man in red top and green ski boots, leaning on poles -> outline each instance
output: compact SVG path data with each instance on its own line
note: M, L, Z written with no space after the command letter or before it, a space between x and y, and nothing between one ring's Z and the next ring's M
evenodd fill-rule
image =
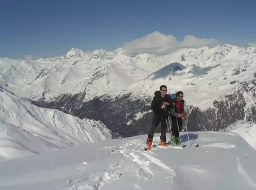
M179 130L182 128L182 118L186 116L187 106L186 102L183 100L183 92L178 91L176 93L176 98L172 99L173 107L171 109L171 118L172 118L172 143L179 145L178 140Z

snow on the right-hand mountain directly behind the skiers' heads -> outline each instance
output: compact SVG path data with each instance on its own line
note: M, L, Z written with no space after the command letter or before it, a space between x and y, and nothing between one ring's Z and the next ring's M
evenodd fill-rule
M184 52L187 54L185 61L180 62ZM213 107L212 102L215 99L234 90L236 85L231 82L251 80L256 71L256 49L231 45L179 50L164 57L169 60L170 67L160 68L155 77L132 84L125 93L143 92L153 97L155 90L165 84L171 94L181 90L187 104L205 110ZM173 74L171 65L176 62L186 68ZM243 71L234 75L234 70Z

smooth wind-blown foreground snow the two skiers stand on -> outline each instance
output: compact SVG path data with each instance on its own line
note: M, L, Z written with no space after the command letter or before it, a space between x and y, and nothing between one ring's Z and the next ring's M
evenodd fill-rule
M146 135L0 163L1 190L255 190L256 151L226 132L182 134L183 149L143 151ZM194 139L194 140L192 140ZM190 146L200 143L200 147ZM159 134L154 139L159 143Z

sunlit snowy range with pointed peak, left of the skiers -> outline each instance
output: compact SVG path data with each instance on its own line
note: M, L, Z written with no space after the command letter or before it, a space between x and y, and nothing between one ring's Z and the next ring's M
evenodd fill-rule
M143 54L131 58L123 49L113 52L94 50L83 54L72 48L61 57L34 61L1 59L1 79L22 97L30 100L60 99L81 94L83 101L120 91L162 67L157 56ZM149 64L153 66L148 67Z

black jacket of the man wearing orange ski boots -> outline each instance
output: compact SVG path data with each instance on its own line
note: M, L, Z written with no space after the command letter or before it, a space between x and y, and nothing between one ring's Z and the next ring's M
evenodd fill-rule
M168 102L169 103L169 105L166 106L166 109L161 108L163 102ZM167 116L168 112L170 112L171 109L173 108L173 103L172 103L172 100L171 100L171 98L168 94L166 94L165 97L163 98L161 96L160 91L156 91L150 108L151 108L151 110L153 110L154 115Z

